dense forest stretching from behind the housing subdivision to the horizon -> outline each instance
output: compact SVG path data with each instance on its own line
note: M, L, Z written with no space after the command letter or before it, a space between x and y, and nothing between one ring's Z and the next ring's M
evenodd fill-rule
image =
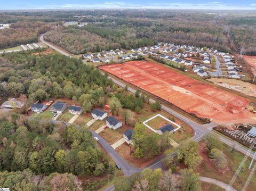
M79 17L78 15L90 15ZM102 17L102 15L106 15ZM74 17L77 16L77 17ZM42 22L59 25L60 21L87 22L87 26L48 28L47 40L58 44L71 53L98 52L103 49L130 49L166 41L174 44L217 48L230 51L229 36L234 39L237 51L243 47L245 54L255 55L255 13L252 11L179 11L179 10L79 10L45 12L3 12L0 23ZM57 23L56 23L57 22ZM11 24L11 28L13 24ZM35 27L34 27L35 28ZM33 29L30 29L34 31ZM17 35L0 31L0 48L17 45ZM21 31L23 32L21 32ZM19 38L28 38L28 43L36 38L35 34L24 27L19 28ZM45 32L43 30L42 32ZM30 38L31 37L31 38ZM62 37L62 38L61 38ZM67 38L68 40L66 40ZM91 40L90 40L91 39ZM8 43L6 43L8 40ZM19 40L21 43L26 41ZM101 43L101 41L103 43ZM96 43L95 43L96 42ZM94 45L95 43L95 45Z

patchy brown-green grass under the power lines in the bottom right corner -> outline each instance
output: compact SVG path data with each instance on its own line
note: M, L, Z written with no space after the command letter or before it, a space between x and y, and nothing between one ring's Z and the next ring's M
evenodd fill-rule
M233 153L230 152L230 147L223 144L221 150L226 155L227 161L228 161L228 168L226 171L218 171L215 168L214 162L209 159L207 156L207 153L202 152L203 150L203 143L200 143L200 154L203 157L203 162L198 166L197 172L200 173L201 176L214 178L217 180L220 180L222 182L225 182L226 184L229 184L230 179L234 176L235 171L237 170L239 164L243 160L244 154L234 151ZM241 170L239 173L236 181L234 182L233 187L237 190L242 190L247 177L250 174L250 170L248 169L249 164L251 162L251 158L249 157L244 165L244 169ZM253 178L250 182L249 187L247 188L247 191L255 190L256 187L256 176L253 175Z

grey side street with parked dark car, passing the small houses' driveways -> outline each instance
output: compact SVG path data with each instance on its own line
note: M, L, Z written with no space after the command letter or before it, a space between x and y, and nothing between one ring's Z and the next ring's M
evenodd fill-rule
M93 137L97 137L99 139L98 143L102 146L102 148L110 155L111 159L121 165L123 168L124 176L131 176L135 172L139 172L140 169L133 167L131 164L127 163L115 150L111 147L108 142L103 139L100 135L90 130Z

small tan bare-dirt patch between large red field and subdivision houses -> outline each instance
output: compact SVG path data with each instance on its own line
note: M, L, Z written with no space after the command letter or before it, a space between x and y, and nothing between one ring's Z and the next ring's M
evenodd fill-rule
M227 79L227 78L210 78L207 80L219 86L236 90L245 95L256 97L256 85L253 85L249 82L244 82L236 79Z

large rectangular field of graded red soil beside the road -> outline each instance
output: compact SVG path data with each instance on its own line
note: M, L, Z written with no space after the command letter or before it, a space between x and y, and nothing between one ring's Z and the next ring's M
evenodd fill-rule
M99 68L198 117L220 124L256 121L256 114L245 109L249 99L206 85L161 64L131 61Z

